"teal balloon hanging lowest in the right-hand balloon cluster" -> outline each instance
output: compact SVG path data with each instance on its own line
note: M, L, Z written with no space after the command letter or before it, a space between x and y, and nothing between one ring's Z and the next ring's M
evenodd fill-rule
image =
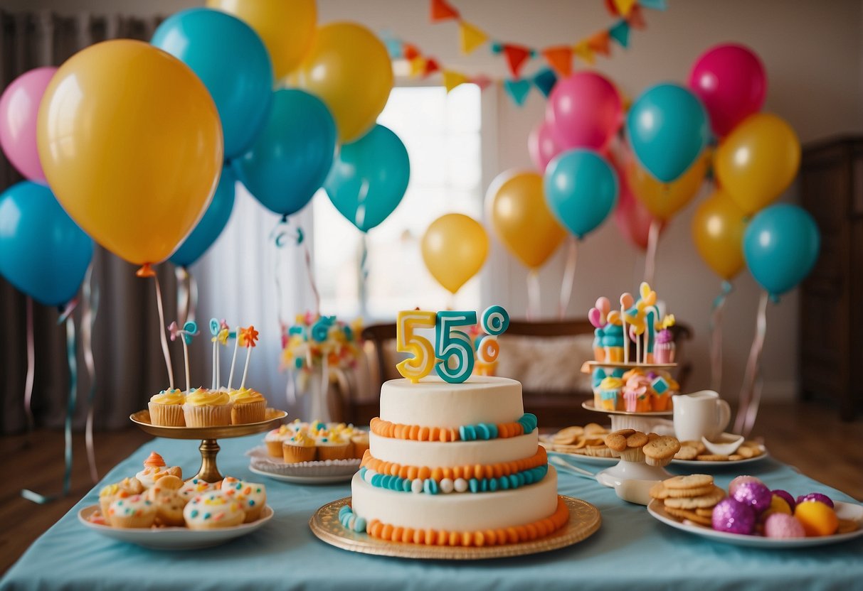
M812 216L782 203L756 214L743 233L743 257L755 281L771 296L794 289L815 266L821 233Z

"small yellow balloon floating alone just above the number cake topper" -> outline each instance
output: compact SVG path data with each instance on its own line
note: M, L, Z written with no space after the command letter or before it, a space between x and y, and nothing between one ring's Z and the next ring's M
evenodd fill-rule
M488 256L488 234L472 217L442 215L425 231L422 252L431 275L455 294L482 269Z

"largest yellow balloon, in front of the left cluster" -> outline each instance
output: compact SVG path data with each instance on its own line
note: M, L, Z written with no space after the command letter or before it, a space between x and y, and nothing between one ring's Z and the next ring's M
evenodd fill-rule
M104 41L61 65L36 134L66 213L134 264L171 256L204 214L222 170L210 93L179 59L141 41Z

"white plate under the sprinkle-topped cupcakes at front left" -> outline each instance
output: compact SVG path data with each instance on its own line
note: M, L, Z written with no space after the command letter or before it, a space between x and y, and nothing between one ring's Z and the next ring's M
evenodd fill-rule
M84 507L78 512L79 521L93 532L97 532L107 538L117 539L129 544L137 544L153 550L197 550L198 548L209 548L230 542L234 538L247 536L254 532L270 519L273 519L274 511L269 505L261 512L261 519L252 523L244 523L242 526L221 527L213 530L190 530L186 527L161 527L161 528L131 528L101 526L87 518L97 511L98 505Z

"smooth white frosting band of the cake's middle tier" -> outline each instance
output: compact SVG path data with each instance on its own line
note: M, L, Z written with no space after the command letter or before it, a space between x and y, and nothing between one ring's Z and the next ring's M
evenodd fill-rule
M369 453L383 462L429 468L454 468L467 464L501 463L536 455L537 431L507 439L488 441L413 441L390 439L369 433Z

